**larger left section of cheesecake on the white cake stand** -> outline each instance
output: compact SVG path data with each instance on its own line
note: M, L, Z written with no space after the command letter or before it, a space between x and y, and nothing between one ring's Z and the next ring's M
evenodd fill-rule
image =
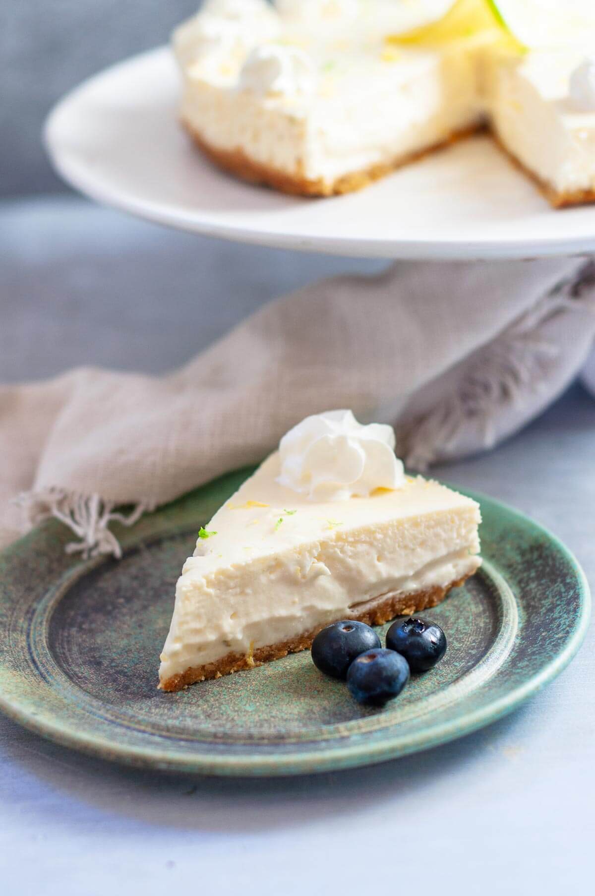
M265 14L255 15L251 0L251 13L246 7L233 19L232 41L225 7L211 3L175 32L180 116L201 149L240 177L288 193L341 194L484 122L482 36L387 47L389 22L383 30L375 15L361 20L340 9L330 22L296 22L264 3Z

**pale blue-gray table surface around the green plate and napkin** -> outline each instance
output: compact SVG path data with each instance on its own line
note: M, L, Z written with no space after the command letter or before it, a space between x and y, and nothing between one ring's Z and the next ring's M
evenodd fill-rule
M85 202L0 206L0 382L75 364L159 372L260 302L363 262L169 233ZM595 401L437 475L554 530L595 582ZM126 771L0 717L0 892L591 892L593 631L522 709L453 744L274 781Z

